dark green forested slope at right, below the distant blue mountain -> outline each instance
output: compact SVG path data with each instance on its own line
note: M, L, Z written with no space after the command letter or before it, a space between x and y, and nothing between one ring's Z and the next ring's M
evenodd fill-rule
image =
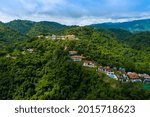
M150 50L150 32L131 33L122 29L99 29L99 31L117 39L119 42L137 50Z

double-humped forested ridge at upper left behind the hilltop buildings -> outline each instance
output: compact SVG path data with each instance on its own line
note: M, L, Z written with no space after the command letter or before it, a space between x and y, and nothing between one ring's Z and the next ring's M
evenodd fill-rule
M9 23L6 23L6 26L14 29L22 34L27 34L29 36L37 36L40 34L49 34L49 33L59 33L66 26L61 25L56 22L33 22L28 20L14 20Z

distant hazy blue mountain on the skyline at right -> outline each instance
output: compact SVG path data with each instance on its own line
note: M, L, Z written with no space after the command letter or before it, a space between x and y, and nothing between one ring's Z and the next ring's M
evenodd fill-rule
M125 30L129 30L131 32L150 31L150 19L135 20L135 21L130 21L130 22L122 22L122 23L92 24L90 26L95 27L95 28L125 29Z

